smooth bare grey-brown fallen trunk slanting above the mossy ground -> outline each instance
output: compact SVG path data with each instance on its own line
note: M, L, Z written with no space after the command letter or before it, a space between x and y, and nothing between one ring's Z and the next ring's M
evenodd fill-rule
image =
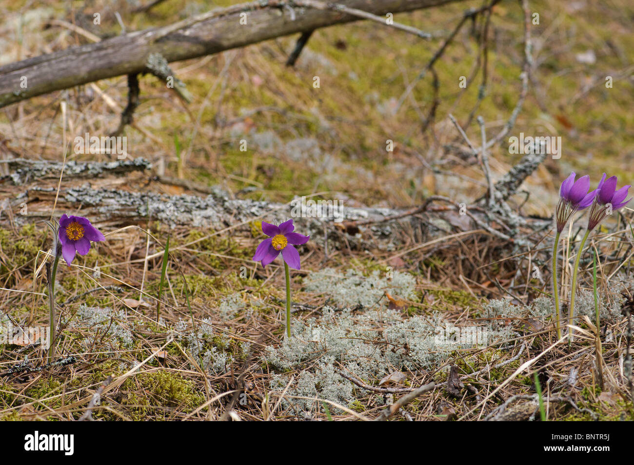
M339 4L385 15L455 1L462 0L341 0ZM87 82L146 72L152 53L159 53L167 62L178 62L359 20L358 16L336 9L298 5L300 0L272 0L217 8L166 27L131 32L5 65L0 67L0 107ZM247 24L241 24L241 18L246 18Z

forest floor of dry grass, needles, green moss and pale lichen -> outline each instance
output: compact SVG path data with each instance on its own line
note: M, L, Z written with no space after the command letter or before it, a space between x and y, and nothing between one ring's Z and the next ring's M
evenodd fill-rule
M140 30L228 2L181 8L167 0L148 13L106 4L3 6L0 65L87 43L84 32L119 34L113 11L125 13L127 30ZM631 182L634 6L529 4L539 15L529 91L489 164L498 180L521 158L509 152L510 136L560 136L562 156L548 156L509 200L525 218L550 218L573 170L590 174L593 185L603 172ZM478 145L477 115L489 135L507 123L521 93L521 5L497 4L488 26L485 15L469 20L434 66L437 91L430 73L404 94L470 6L481 4L395 16L431 32L430 41L370 22L317 30L295 67L285 61L296 37L172 63L193 95L189 104L144 75L124 135L130 158L143 157L150 170L15 183L0 162L0 328L48 325L51 231L41 218L89 216L69 199L74 188L281 204L317 194L359 209L408 209L430 195L474 202L486 180L475 157L462 156L467 145L448 115ZM92 22L96 11L101 25ZM54 18L75 18L82 32L51 25ZM110 161L78 154L74 138L112 133L126 102L123 76L12 105L0 113L3 159ZM394 150L386 151L388 141ZM264 239L261 221L272 218L224 227L101 218L95 226L106 240L72 267L60 264L55 362L46 365L37 344L0 344L0 419L354 420L385 417L396 405L389 417L405 421L632 420L628 344L634 348L623 313L631 301L622 295L633 284L631 218L623 209L591 237L599 252L596 294L592 255L582 255L572 343L557 341L554 329L552 230L529 247L482 230L456 237L456 225L434 244L406 225L380 247L354 241L372 243L370 227L330 239L313 234L299 249L302 270L291 273L287 339L281 258L264 269L252 261ZM571 222L562 236L564 310L585 221ZM296 232L301 227L297 221ZM434 388L398 404L431 382Z

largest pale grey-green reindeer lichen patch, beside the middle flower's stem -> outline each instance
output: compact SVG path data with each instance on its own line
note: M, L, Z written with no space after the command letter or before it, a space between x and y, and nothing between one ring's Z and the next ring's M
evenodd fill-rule
M385 291L415 298L415 284L412 275L401 272L394 272L391 279L380 277L377 271L369 277L354 270L345 275L330 269L313 273L305 290L326 294L342 307L325 306L320 318L294 322L291 339L278 348L266 348L263 362L276 372L271 389L284 390L290 378L287 372L299 370L288 395L351 405L367 393L337 374L337 369L375 384L394 370L434 370L454 351L480 345L469 338L452 339L445 332L451 325L441 311L407 317L403 311L385 308L385 302L377 304ZM514 337L507 327L484 329L480 334L488 344ZM320 408L313 400L292 402L302 409Z

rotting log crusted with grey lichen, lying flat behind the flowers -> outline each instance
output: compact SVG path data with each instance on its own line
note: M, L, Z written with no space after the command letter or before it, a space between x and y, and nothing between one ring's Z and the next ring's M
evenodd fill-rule
M543 157L524 155L518 164L505 175L500 183L495 185L496 198L505 205L505 200L515 193L522 181L535 169ZM4 181L11 180L15 185L27 185L28 190L11 199L5 198L0 203L0 212L11 209L13 214L0 214L0 225L7 221L17 224L28 223L50 218L49 206L53 204L57 190L58 176L61 163L47 160L29 161L22 159L8 160L8 166L15 169L15 173L5 176ZM169 226L190 226L192 228L211 228L223 230L241 224L243 229L249 230L247 223L256 219L266 221L285 221L296 218L304 233L323 235L324 233L346 237L353 246L391 248L401 243L401 240L413 234L421 242L436 240L452 234L462 235L473 231L486 232L501 239L507 239L514 246L526 246L530 240L526 237L534 232L540 232L550 226L550 219L524 218L512 213L512 218L503 216L505 209L491 218L491 211L484 207L483 200L477 200L468 207L466 214L460 214L459 206L453 200L444 197L429 197L422 206L414 209L389 208L353 208L336 205L337 209L327 211L328 214L314 216L314 211L307 209L302 214L301 199L290 204L256 201L250 199L236 199L221 188L209 187L202 189L197 185L189 185L182 180L174 183L169 178L145 176L152 165L142 158L135 160L117 160L113 162L67 162L64 169L65 180L94 180L84 185L65 183L60 187L58 211L63 213L65 208L75 209L81 205L82 214L89 216L94 223L108 223L110 225L130 225L160 221ZM179 185L192 192L208 192L205 197L197 195L167 195L157 192L131 192L130 190L115 188L120 181L108 181L108 175L141 172L136 181L148 187L148 182ZM42 181L51 180L48 185ZM37 181L35 183L34 181ZM140 181L140 182L139 182ZM498 192L498 185L503 192ZM437 204L434 202L441 202ZM23 211L23 206L29 208ZM331 204L332 205L332 204ZM310 207L310 205L309 205ZM335 205L332 205L335 207ZM328 209L328 206L326 206ZM508 206L506 206L508 209ZM22 210L23 213L18 211ZM522 232L517 237L508 237L493 228L491 220L498 224L508 222L519 226ZM400 232L406 230L405 235Z

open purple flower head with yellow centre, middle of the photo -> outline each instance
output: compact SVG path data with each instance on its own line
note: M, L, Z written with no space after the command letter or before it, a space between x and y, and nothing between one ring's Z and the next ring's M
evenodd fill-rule
M289 219L280 226L271 225L262 221L262 231L269 236L257 246L256 254L253 256L254 261L261 261L262 266L266 266L280 254L284 261L295 270L301 270L299 264L299 252L293 246L306 244L310 236L304 236L293 232L293 220Z

